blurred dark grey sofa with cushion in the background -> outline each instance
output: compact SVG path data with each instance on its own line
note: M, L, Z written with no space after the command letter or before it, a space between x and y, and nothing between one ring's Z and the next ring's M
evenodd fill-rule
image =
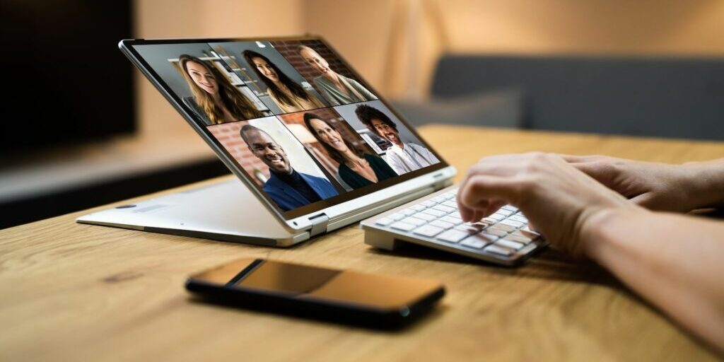
M724 140L724 58L445 55L432 100L396 105L416 123Z

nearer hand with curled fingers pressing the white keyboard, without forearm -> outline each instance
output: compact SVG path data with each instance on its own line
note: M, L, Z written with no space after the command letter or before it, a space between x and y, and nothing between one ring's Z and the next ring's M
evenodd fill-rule
M600 211L642 210L551 153L481 159L460 183L457 199L466 222L479 221L510 203L549 243L576 257L586 253L586 230Z

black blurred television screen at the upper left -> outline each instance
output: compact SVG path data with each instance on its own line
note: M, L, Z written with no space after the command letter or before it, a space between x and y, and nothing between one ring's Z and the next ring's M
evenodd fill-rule
M3 153L135 130L131 2L0 0Z

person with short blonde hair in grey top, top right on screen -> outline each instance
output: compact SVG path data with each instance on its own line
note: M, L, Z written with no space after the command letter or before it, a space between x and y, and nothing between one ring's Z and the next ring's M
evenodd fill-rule
M377 97L367 88L352 78L334 72L329 67L327 60L322 58L319 53L308 46L299 46L297 51L307 64L321 72L320 77L314 78L314 85L319 89L319 93L327 98L332 106L340 106L341 104L358 103L362 101L373 101Z

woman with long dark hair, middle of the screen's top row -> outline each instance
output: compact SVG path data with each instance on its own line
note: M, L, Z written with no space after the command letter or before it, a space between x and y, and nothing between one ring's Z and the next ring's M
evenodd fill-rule
M308 111L324 107L324 104L301 85L293 81L277 64L256 51L245 50L242 55L259 79L269 88L269 98L283 113Z

